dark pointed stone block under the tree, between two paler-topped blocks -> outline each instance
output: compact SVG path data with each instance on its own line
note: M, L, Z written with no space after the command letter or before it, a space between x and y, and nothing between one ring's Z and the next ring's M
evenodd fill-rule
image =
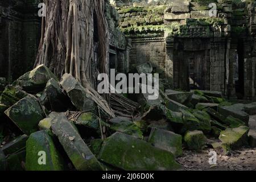
M53 78L47 82L46 88L40 97L40 102L51 111L66 111L70 105L68 96L65 96L59 83Z

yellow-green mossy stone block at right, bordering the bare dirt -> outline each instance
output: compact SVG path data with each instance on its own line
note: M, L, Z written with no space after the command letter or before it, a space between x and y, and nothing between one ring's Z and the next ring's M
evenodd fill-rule
M238 148L247 144L249 127L240 126L235 129L226 129L221 131L219 139L222 143L227 144L231 149Z

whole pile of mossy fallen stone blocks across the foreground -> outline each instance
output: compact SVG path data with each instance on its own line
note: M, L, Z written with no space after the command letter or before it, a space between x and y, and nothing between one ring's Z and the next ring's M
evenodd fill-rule
M16 127L19 137L3 134L0 170L177 170L184 149L226 155L255 146L248 121L256 103L232 105L202 90L128 97L141 114L105 117L74 77L59 81L40 65L2 92L0 129Z

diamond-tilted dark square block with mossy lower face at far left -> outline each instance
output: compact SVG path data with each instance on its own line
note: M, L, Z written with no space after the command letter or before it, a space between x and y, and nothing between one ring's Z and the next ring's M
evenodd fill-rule
M38 130L39 122L45 117L42 107L34 96L23 98L7 109L5 114L27 135Z

